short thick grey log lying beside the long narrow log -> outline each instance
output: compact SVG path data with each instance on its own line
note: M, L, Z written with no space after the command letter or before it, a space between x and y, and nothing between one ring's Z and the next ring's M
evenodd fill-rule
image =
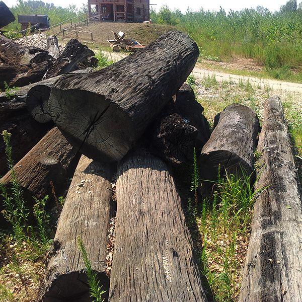
M251 174L259 128L259 120L249 107L226 107L198 159L201 178L215 180L219 165L222 174L225 170L235 175L241 175L242 170Z

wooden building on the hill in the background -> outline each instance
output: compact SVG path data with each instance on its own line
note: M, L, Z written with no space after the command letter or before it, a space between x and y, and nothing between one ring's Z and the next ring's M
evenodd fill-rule
M149 0L88 0L88 10L90 17L96 16L102 21L149 20Z

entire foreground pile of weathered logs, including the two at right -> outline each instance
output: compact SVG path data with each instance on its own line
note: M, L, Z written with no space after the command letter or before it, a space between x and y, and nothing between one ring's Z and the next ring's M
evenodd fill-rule
M1 130L12 132L18 153L14 171L26 199L50 194L50 182L59 189L68 170L77 167L38 300L90 300L80 237L106 302L206 302L208 284L198 268L171 171L181 167L191 174L195 148L202 179L215 180L219 169L221 174L252 173L259 120L252 109L233 104L215 117L210 135L202 106L184 84L198 47L181 32L168 32L105 69L75 70L92 55L77 40L59 53L55 37L42 51L0 36L2 74L7 77L12 68L7 83L24 84L11 100L0 94L0 114ZM19 66L22 60L28 61ZM37 82L26 82L24 70L39 64L45 65L44 79L40 74ZM0 143L0 163L5 162L4 149ZM301 192L276 98L265 103L258 149L264 170L257 188L266 189L255 205L240 299L300 301ZM9 187L12 171L4 167L0 181ZM114 216L109 267L106 250Z

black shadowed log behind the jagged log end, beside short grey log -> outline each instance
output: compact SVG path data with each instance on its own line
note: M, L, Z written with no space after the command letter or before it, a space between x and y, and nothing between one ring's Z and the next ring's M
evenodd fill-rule
M202 114L203 107L196 101L194 91L188 84L183 84L175 96L175 105L184 120L198 130L196 148L201 148L210 138L210 127Z

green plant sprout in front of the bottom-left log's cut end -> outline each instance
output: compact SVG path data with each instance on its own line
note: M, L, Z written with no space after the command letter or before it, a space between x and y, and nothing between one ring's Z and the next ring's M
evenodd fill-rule
M90 296L93 298L93 302L104 302L103 294L106 290L102 290L102 286L100 286L100 281L97 279L97 273L93 271L91 267L91 261L88 257L86 247L79 236L77 238L79 249L82 253L84 265L86 267L87 281L89 285Z

